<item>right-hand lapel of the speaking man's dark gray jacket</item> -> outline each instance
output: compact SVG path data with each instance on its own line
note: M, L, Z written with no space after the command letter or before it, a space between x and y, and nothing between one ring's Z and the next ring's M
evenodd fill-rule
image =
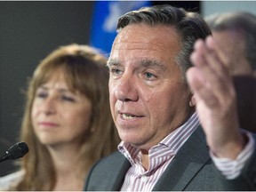
M174 156L171 164L167 166L153 190L183 190L189 180L209 160L209 148L206 145L204 132L200 126Z

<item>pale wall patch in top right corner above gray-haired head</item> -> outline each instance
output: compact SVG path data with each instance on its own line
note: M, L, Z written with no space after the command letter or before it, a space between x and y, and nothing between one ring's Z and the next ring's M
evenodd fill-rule
M202 1L201 12L204 17L213 13L247 11L256 14L256 1Z

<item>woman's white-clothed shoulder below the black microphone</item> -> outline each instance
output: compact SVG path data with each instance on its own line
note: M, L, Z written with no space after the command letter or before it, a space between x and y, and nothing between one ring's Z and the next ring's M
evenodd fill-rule
M16 186L22 180L24 173L24 171L12 172L11 174L0 177L0 190L8 190Z

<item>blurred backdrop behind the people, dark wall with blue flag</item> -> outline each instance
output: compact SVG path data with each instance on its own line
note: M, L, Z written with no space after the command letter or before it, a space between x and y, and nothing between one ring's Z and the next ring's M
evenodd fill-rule
M64 44L91 44L107 56L124 12L148 4L172 4L199 12L256 13L253 1L0 1L0 156L19 141L28 77L40 60ZM15 170L0 164L0 176Z

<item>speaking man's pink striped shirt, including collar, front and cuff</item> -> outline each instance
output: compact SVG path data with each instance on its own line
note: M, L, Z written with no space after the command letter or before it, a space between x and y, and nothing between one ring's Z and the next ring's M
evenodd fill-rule
M157 180L170 164L172 158L177 154L189 136L196 130L199 120L196 113L188 121L181 125L174 132L171 132L158 145L150 148L148 151L149 168L145 171L141 164L140 149L133 148L131 145L124 143L119 144L119 151L130 161L132 167L128 170L124 178L122 191L151 191L156 185ZM251 132L242 131L248 137L248 143L243 151L236 157L236 160L219 158L212 156L213 163L228 179L235 179L244 167L245 162L252 156L255 140Z

